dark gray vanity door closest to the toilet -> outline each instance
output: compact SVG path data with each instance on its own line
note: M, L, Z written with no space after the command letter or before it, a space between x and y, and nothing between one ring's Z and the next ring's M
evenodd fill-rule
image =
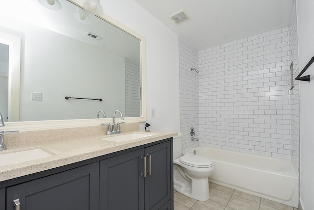
M171 141L145 148L147 171L151 158L151 175L145 178L145 210L160 209L172 197L171 149Z

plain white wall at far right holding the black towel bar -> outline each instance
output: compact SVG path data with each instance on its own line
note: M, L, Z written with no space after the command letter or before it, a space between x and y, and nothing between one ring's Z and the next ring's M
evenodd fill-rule
M313 0L297 0L299 69L314 56ZM314 65L300 81L300 201L303 210L314 209Z

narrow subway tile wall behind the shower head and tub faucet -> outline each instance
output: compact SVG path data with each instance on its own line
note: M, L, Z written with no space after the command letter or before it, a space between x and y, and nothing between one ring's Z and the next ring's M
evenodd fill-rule
M183 153L198 143L191 141L189 130L198 129L198 74L191 68L198 67L198 50L179 38L179 77L180 77L180 124L183 134Z

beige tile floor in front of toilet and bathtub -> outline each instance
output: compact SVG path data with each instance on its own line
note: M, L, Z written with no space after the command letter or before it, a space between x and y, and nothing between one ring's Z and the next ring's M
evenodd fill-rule
M175 191L174 210L298 210L214 183L209 183L209 195L202 202Z

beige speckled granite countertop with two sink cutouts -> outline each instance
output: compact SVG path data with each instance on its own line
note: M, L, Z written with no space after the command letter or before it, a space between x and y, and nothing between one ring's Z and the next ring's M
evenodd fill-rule
M134 131L123 132L121 134L115 134L114 136L133 132ZM135 132L145 134L149 133L145 131ZM0 182L156 142L177 135L177 132L151 131L150 133L154 135L124 142L103 140L101 138L111 137L113 135L106 136L105 134L102 134L85 137L63 137L62 139L57 139L56 137L51 136L51 139L47 138L45 141L32 142L29 144L10 145L10 147L7 146L7 150L1 151L0 155L31 149L42 149L50 153L52 156L0 166Z

